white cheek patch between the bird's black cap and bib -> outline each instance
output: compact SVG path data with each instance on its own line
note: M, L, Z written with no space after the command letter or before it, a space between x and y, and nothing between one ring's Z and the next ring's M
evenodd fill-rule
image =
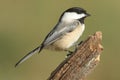
M81 19L83 17L85 17L86 15L84 13L81 14L77 14L75 12L66 12L63 17L62 17L62 21L71 21L71 20L75 20L75 19Z

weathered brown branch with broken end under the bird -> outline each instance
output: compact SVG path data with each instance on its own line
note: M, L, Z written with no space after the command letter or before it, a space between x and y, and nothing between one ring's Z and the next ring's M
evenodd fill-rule
M50 75L48 80L83 80L100 61L102 33L83 41Z

